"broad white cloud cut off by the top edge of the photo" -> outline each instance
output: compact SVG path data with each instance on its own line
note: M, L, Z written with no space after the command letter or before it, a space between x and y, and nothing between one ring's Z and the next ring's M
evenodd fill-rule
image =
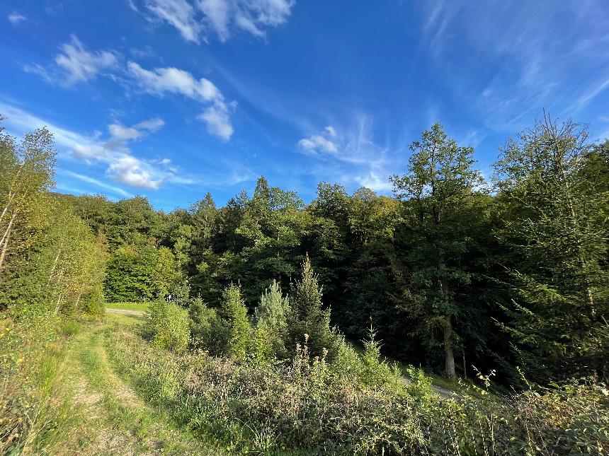
M215 35L220 41L242 30L264 37L266 28L288 21L295 0L143 0L152 17L173 25L184 40L199 43ZM195 5L195 6L193 6ZM137 7L132 4L137 11Z

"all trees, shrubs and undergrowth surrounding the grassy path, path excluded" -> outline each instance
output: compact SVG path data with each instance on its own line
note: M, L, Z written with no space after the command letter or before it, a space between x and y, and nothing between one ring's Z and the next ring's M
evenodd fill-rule
M609 141L585 124L544 112L488 179L434 124L391 196L259 177L169 213L54 192L50 131L0 134L3 454L61 440L34 373L115 303L147 309L108 329L118 372L229 454L609 451Z

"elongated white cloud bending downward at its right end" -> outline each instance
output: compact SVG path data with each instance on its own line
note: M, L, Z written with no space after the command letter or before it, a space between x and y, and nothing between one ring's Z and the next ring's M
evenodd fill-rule
M207 124L210 134L215 134L224 141L232 136L234 129L230 122L230 111L236 103L226 103L212 81L196 79L188 71L171 67L147 70L135 62L128 62L127 69L144 92L159 96L178 93L199 103L211 103L198 118Z

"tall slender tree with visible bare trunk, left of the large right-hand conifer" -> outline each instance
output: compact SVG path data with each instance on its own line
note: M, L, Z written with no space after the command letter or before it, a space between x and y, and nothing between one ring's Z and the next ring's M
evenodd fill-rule
M440 329L444 372L455 378L453 325L460 315L455 283L471 280L459 260L467 251L474 223L474 195L484 180L473 168L474 149L448 138L440 124L423 131L410 148L408 173L392 177L395 194L405 201L404 226L414 241L409 262L418 296L411 300L409 312L430 332Z

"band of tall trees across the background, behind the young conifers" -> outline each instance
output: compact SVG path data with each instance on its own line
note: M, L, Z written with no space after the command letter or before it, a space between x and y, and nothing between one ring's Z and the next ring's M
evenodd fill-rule
M322 182L305 204L261 177L251 196L217 207L207 193L170 213L53 194L44 129L1 145L5 309L171 296L222 312L232 284L254 314L297 288L308 256L318 317L353 341L372 325L387 356L448 378L496 369L511 385L519 371L608 378L609 143L584 125L544 116L500 148L491 182L436 124L392 197Z

